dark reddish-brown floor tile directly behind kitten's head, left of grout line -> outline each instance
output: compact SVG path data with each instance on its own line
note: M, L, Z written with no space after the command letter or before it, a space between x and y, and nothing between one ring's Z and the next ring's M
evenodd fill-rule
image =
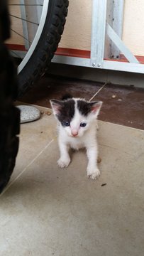
M101 83L98 82L45 75L37 82L35 87L19 100L43 107L50 107L50 99L61 99L67 93L74 97L84 97L89 100L100 87Z

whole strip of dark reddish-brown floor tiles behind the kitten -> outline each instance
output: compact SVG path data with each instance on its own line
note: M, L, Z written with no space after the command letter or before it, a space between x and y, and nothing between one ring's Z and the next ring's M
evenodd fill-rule
M43 107L50 107L50 99L60 99L65 93L90 100L102 85L99 82L46 74L19 100ZM94 100L104 102L99 119L144 129L144 89L123 85L106 85L94 97Z

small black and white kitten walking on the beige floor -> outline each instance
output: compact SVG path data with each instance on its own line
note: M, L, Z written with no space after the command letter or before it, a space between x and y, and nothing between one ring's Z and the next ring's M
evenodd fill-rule
M87 102L81 98L65 100L50 100L53 113L59 121L60 159L57 161L61 168L70 164L69 149L87 149L87 176L94 179L100 175L97 167L98 147L96 142L96 118L102 102Z

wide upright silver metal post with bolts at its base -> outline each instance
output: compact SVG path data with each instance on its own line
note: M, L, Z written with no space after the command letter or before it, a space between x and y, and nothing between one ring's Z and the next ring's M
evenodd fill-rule
M93 0L91 65L103 68L106 32L106 0Z

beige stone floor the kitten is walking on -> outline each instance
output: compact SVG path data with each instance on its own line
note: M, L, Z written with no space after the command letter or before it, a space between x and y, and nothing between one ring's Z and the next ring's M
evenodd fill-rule
M99 121L101 176L92 181L84 151L57 167L56 122L42 109L21 125L16 168L0 196L0 255L144 255L144 131Z

